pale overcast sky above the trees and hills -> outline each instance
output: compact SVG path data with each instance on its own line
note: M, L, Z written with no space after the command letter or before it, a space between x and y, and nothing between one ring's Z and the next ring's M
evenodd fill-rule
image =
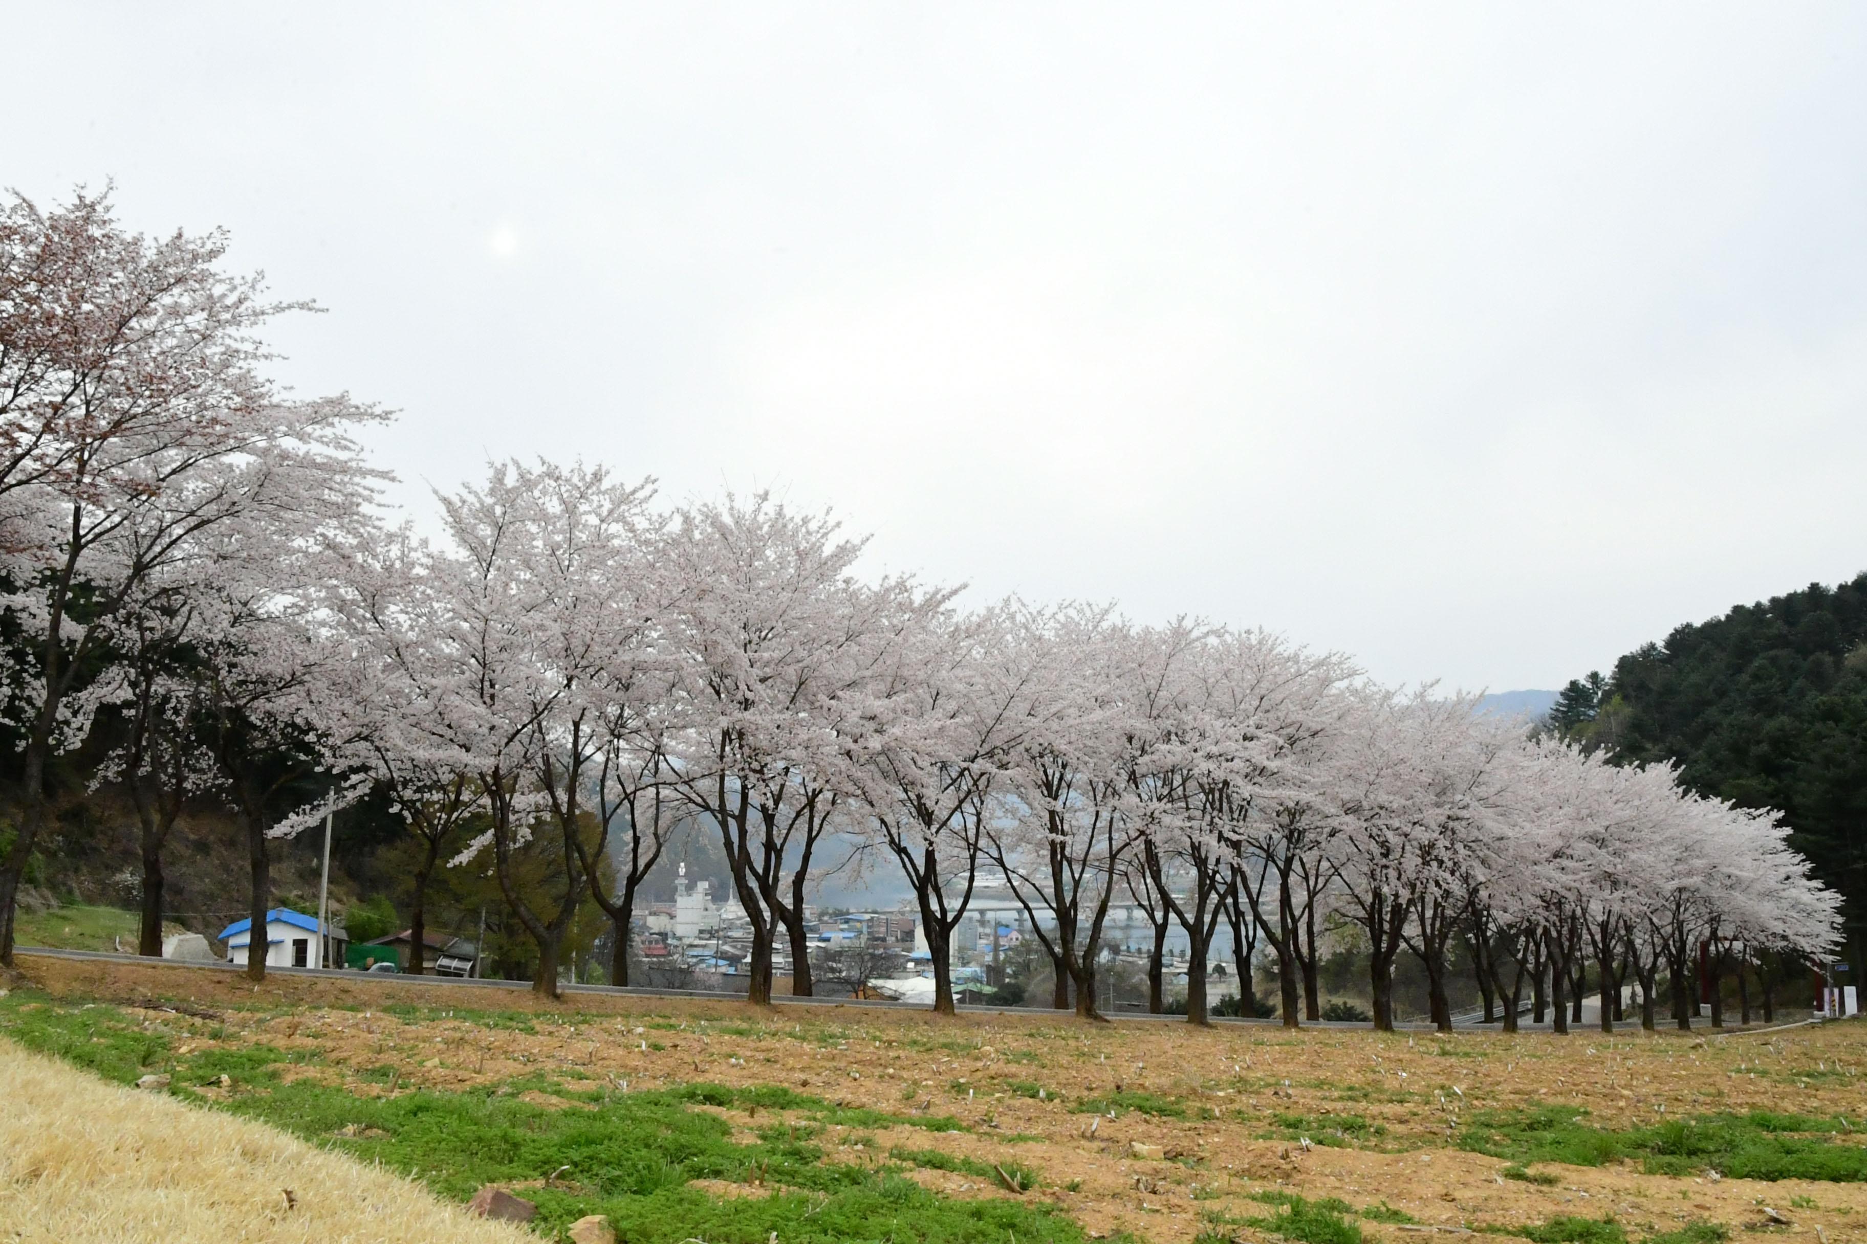
M1492 690L1867 569L1861 6L4 30L0 185L228 226L411 507L583 455Z

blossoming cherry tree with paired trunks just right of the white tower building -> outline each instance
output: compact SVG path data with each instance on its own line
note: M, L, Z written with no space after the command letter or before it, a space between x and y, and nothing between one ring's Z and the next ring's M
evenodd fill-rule
M945 593L851 576L863 541L760 494L678 515L668 642L678 655L674 781L721 836L752 923L751 998L771 998L782 929L810 994L805 895L898 690L896 642Z

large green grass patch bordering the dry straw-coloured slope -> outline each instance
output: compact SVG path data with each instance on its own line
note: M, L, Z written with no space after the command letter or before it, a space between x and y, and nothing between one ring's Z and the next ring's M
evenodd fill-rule
M456 1201L487 1182L554 1177L553 1186L523 1194L538 1203L534 1225L545 1238L556 1238L584 1214L607 1214L618 1237L631 1244L691 1238L760 1244L773 1233L786 1244L1083 1240L1081 1229L1049 1205L945 1197L898 1169L829 1158L818 1143L827 1125L930 1127L930 1121L846 1110L784 1087L685 1085L611 1095L588 1110L534 1106L519 1100L512 1085L500 1085L504 1093L418 1089L366 1097L312 1078L286 1084L273 1071L282 1056L265 1046L177 1057L168 1037L142 1030L116 1007L77 1007L24 994L0 998L0 1033L116 1082L174 1069L174 1091L183 1097L194 1097L189 1084L230 1074L241 1091L211 1108L269 1123L362 1162L381 1162ZM583 1091L554 1091L584 1097ZM700 1104L756 1104L773 1110L775 1117L756 1143L739 1143L734 1127ZM786 1119L777 1112L807 1117ZM1023 1166L1016 1171L1006 1166L1006 1173L1014 1181L1034 1181ZM767 1192L715 1199L691 1186L696 1179L745 1182Z

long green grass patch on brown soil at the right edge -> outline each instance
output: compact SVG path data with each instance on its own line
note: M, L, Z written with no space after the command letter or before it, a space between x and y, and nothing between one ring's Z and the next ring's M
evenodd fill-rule
M1518 1166L1634 1160L1650 1175L1714 1169L1734 1179L1867 1181L1867 1149L1830 1140L1845 1130L1839 1119L1753 1110L1611 1130L1591 1127L1585 1113L1572 1106L1477 1112L1458 1147Z

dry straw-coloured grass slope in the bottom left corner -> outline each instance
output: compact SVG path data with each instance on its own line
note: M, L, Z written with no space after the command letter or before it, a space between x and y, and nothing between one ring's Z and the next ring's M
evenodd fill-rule
M0 1240L536 1244L261 1123L121 1089L7 1041Z

